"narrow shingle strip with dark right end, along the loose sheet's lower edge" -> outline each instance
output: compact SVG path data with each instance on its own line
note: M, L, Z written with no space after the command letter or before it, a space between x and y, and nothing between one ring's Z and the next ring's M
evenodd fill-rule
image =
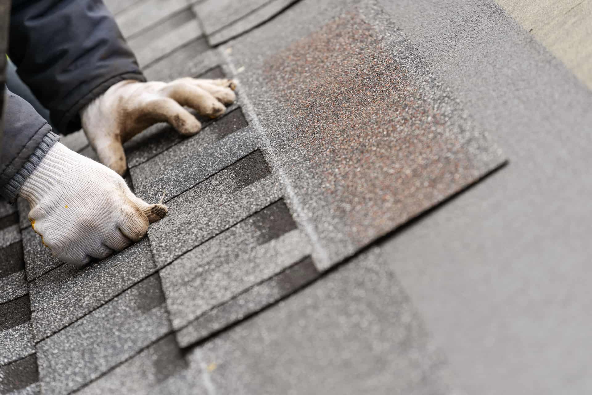
M253 285L226 303L202 314L176 332L177 341L181 347L201 341L281 300L315 280L318 275L312 259L305 258L269 280Z

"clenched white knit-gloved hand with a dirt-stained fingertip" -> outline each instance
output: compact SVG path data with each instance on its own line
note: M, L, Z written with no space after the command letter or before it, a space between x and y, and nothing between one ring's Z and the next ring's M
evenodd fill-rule
M137 242L167 211L136 197L111 169L61 143L47 152L19 194L31 206L29 220L43 243L78 266Z

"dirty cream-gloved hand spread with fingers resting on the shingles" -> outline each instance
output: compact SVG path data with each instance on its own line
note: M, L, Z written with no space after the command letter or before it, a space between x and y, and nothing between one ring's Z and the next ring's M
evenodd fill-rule
M215 118L234 102L236 84L230 79L181 78L169 82L121 81L81 111L82 129L99 159L123 175L126 154L122 144L157 122L168 122L191 136L200 122L183 106Z

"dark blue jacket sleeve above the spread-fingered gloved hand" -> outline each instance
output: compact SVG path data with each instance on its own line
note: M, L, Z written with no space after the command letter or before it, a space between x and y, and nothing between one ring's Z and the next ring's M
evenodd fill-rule
M118 81L146 81L100 0L13 0L8 55L59 133Z

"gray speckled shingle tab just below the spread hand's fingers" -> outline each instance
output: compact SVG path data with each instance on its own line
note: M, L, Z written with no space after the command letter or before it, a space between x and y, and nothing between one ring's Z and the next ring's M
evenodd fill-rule
M240 110L233 111L200 134L131 168L136 194L152 202L166 190L165 199L170 200L256 149L255 133L243 128L245 124Z

